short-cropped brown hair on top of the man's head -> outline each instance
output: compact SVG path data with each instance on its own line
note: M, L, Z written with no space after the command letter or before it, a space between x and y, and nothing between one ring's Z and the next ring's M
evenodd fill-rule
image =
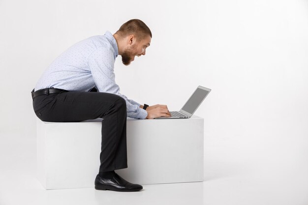
M143 39L146 35L150 35L152 38L152 32L149 27L139 19L131 19L124 23L116 33L121 37L133 34L140 39Z

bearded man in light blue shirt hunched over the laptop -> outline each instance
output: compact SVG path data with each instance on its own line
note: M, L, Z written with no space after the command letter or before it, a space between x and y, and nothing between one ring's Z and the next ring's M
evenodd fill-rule
M114 172L127 168L126 117L171 117L166 105L142 106L121 94L115 83L117 56L128 65L135 56L146 55L151 39L147 25L132 19L113 35L107 31L80 41L49 65L31 92L34 112L43 121L103 118L95 189L141 190L141 185L127 182Z

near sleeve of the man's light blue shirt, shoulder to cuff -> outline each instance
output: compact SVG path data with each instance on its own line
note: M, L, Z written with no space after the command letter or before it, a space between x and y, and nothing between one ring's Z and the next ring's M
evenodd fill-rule
M97 48L88 58L92 77L99 92L108 92L121 96L126 102L127 117L145 119L148 116L146 110L140 108L140 104L128 99L120 93L120 87L115 82L113 48Z

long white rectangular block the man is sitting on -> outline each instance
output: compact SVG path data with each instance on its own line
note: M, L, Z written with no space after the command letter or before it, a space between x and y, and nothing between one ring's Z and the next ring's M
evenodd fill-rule
M94 187L101 120L37 119L37 177L45 189ZM116 172L139 184L203 181L203 122L127 118L128 168Z

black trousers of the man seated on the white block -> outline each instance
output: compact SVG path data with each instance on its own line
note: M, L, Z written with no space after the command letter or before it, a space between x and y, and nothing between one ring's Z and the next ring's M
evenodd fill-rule
M33 99L38 118L50 122L78 122L103 118L99 171L127 168L126 102L116 94L63 91Z

